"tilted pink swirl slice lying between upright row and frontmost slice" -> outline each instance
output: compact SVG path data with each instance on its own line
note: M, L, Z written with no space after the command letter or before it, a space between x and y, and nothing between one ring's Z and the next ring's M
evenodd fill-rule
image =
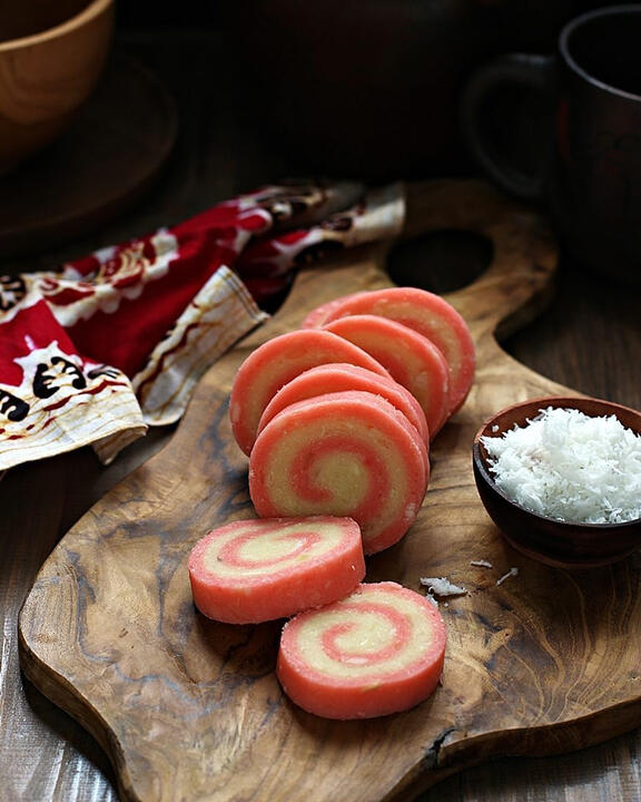
M361 529L351 518L235 521L200 539L189 557L196 607L228 624L329 604L364 576Z

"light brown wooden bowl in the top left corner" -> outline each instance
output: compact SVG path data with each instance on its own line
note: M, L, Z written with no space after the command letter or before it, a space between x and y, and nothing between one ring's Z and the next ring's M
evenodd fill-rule
M100 76L114 0L0 3L0 174L52 141Z

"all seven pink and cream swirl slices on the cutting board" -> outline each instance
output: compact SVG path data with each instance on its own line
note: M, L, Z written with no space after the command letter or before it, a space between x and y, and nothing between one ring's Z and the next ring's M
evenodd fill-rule
M277 674L334 718L407 710L436 686L445 627L394 583L361 584L423 503L430 442L463 404L474 344L423 290L347 295L254 351L230 397L259 520L210 532L190 557L196 606L228 623L294 616ZM364 635L365 634L365 635Z

